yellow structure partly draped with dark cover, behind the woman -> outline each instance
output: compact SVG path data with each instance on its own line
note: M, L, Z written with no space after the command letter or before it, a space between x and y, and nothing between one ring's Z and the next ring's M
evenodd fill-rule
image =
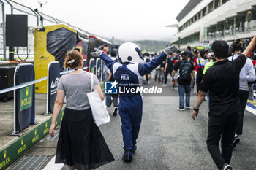
M64 58L76 45L77 31L64 25L43 26L34 30L35 80L47 76L50 61L59 61L62 68ZM36 93L47 93L47 80L35 85Z

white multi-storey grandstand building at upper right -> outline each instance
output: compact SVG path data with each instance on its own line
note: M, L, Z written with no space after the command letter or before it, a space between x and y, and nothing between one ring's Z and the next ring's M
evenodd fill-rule
M181 48L207 45L215 39L233 42L237 37L248 45L256 34L256 1L190 0L176 20L178 33L171 42Z

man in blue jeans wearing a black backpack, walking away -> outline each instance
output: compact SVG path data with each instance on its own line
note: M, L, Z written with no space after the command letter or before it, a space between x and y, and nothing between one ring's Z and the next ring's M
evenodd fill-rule
M180 111L185 109L191 109L190 107L190 91L191 91L191 74L193 80L195 80L195 66L191 61L188 61L188 53L184 51L181 54L182 61L178 61L173 66L172 78L175 72L178 72L178 96L179 96L179 107ZM184 95L186 93L186 106L184 107Z

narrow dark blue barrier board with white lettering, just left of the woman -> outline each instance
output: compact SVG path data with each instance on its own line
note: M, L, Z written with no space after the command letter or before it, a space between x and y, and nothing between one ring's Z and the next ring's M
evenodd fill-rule
M47 107L46 115L53 113L54 102L57 96L57 86L60 77L59 62L52 61L48 65Z

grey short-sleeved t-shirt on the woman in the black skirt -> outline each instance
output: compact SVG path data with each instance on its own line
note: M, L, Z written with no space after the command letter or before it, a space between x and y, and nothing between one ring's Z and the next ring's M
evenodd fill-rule
M98 84L99 80L94 75L94 86ZM88 109L90 104L86 93L91 92L91 74L89 72L68 73L61 76L57 90L64 90L68 109Z

